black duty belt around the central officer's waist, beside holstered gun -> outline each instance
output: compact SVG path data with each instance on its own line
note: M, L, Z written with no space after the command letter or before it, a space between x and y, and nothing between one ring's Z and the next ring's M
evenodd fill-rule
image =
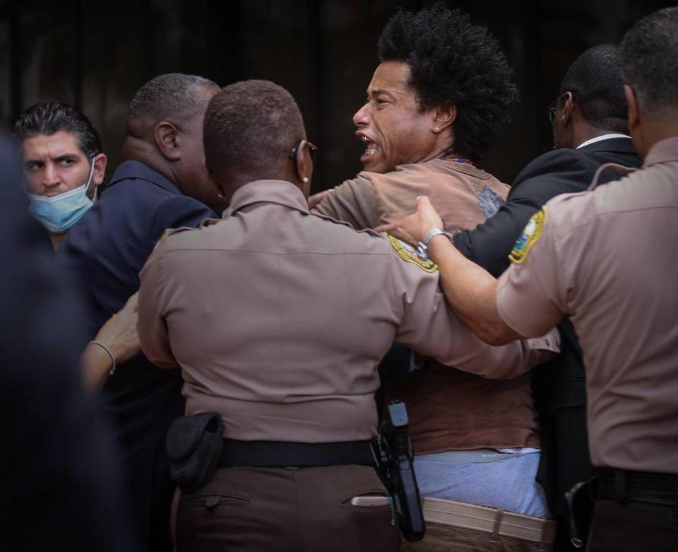
M311 467L357 464L375 466L370 441L284 442L224 439L217 466Z

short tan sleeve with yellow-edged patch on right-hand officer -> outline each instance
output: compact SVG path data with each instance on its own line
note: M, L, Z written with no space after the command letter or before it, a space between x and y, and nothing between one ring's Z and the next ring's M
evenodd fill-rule
M566 267L559 261L563 246L557 246L559 225L550 203L540 212L545 213L542 229L536 237L528 235L525 239L525 227L509 257L511 266L501 275L496 288L499 317L527 337L541 336L556 326L567 311ZM516 254L521 247L523 250Z

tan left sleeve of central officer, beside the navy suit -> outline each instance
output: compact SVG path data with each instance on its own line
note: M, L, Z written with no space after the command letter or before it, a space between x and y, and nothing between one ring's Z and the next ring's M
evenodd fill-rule
M162 245L141 270L139 288L137 331L141 349L146 358L158 368L179 368L169 346L169 334L165 323L167 290L162 285Z

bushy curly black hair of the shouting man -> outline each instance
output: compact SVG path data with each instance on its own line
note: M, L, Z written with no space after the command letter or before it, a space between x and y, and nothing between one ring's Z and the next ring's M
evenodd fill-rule
M408 64L420 110L456 104L451 149L471 158L481 158L504 131L509 106L518 100L511 67L489 30L441 3L389 19L379 59Z

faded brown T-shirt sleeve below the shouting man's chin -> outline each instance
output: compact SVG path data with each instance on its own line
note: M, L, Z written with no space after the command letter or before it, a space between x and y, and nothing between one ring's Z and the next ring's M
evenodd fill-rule
M374 186L360 175L333 188L314 211L349 223L356 230L376 228L381 224Z

